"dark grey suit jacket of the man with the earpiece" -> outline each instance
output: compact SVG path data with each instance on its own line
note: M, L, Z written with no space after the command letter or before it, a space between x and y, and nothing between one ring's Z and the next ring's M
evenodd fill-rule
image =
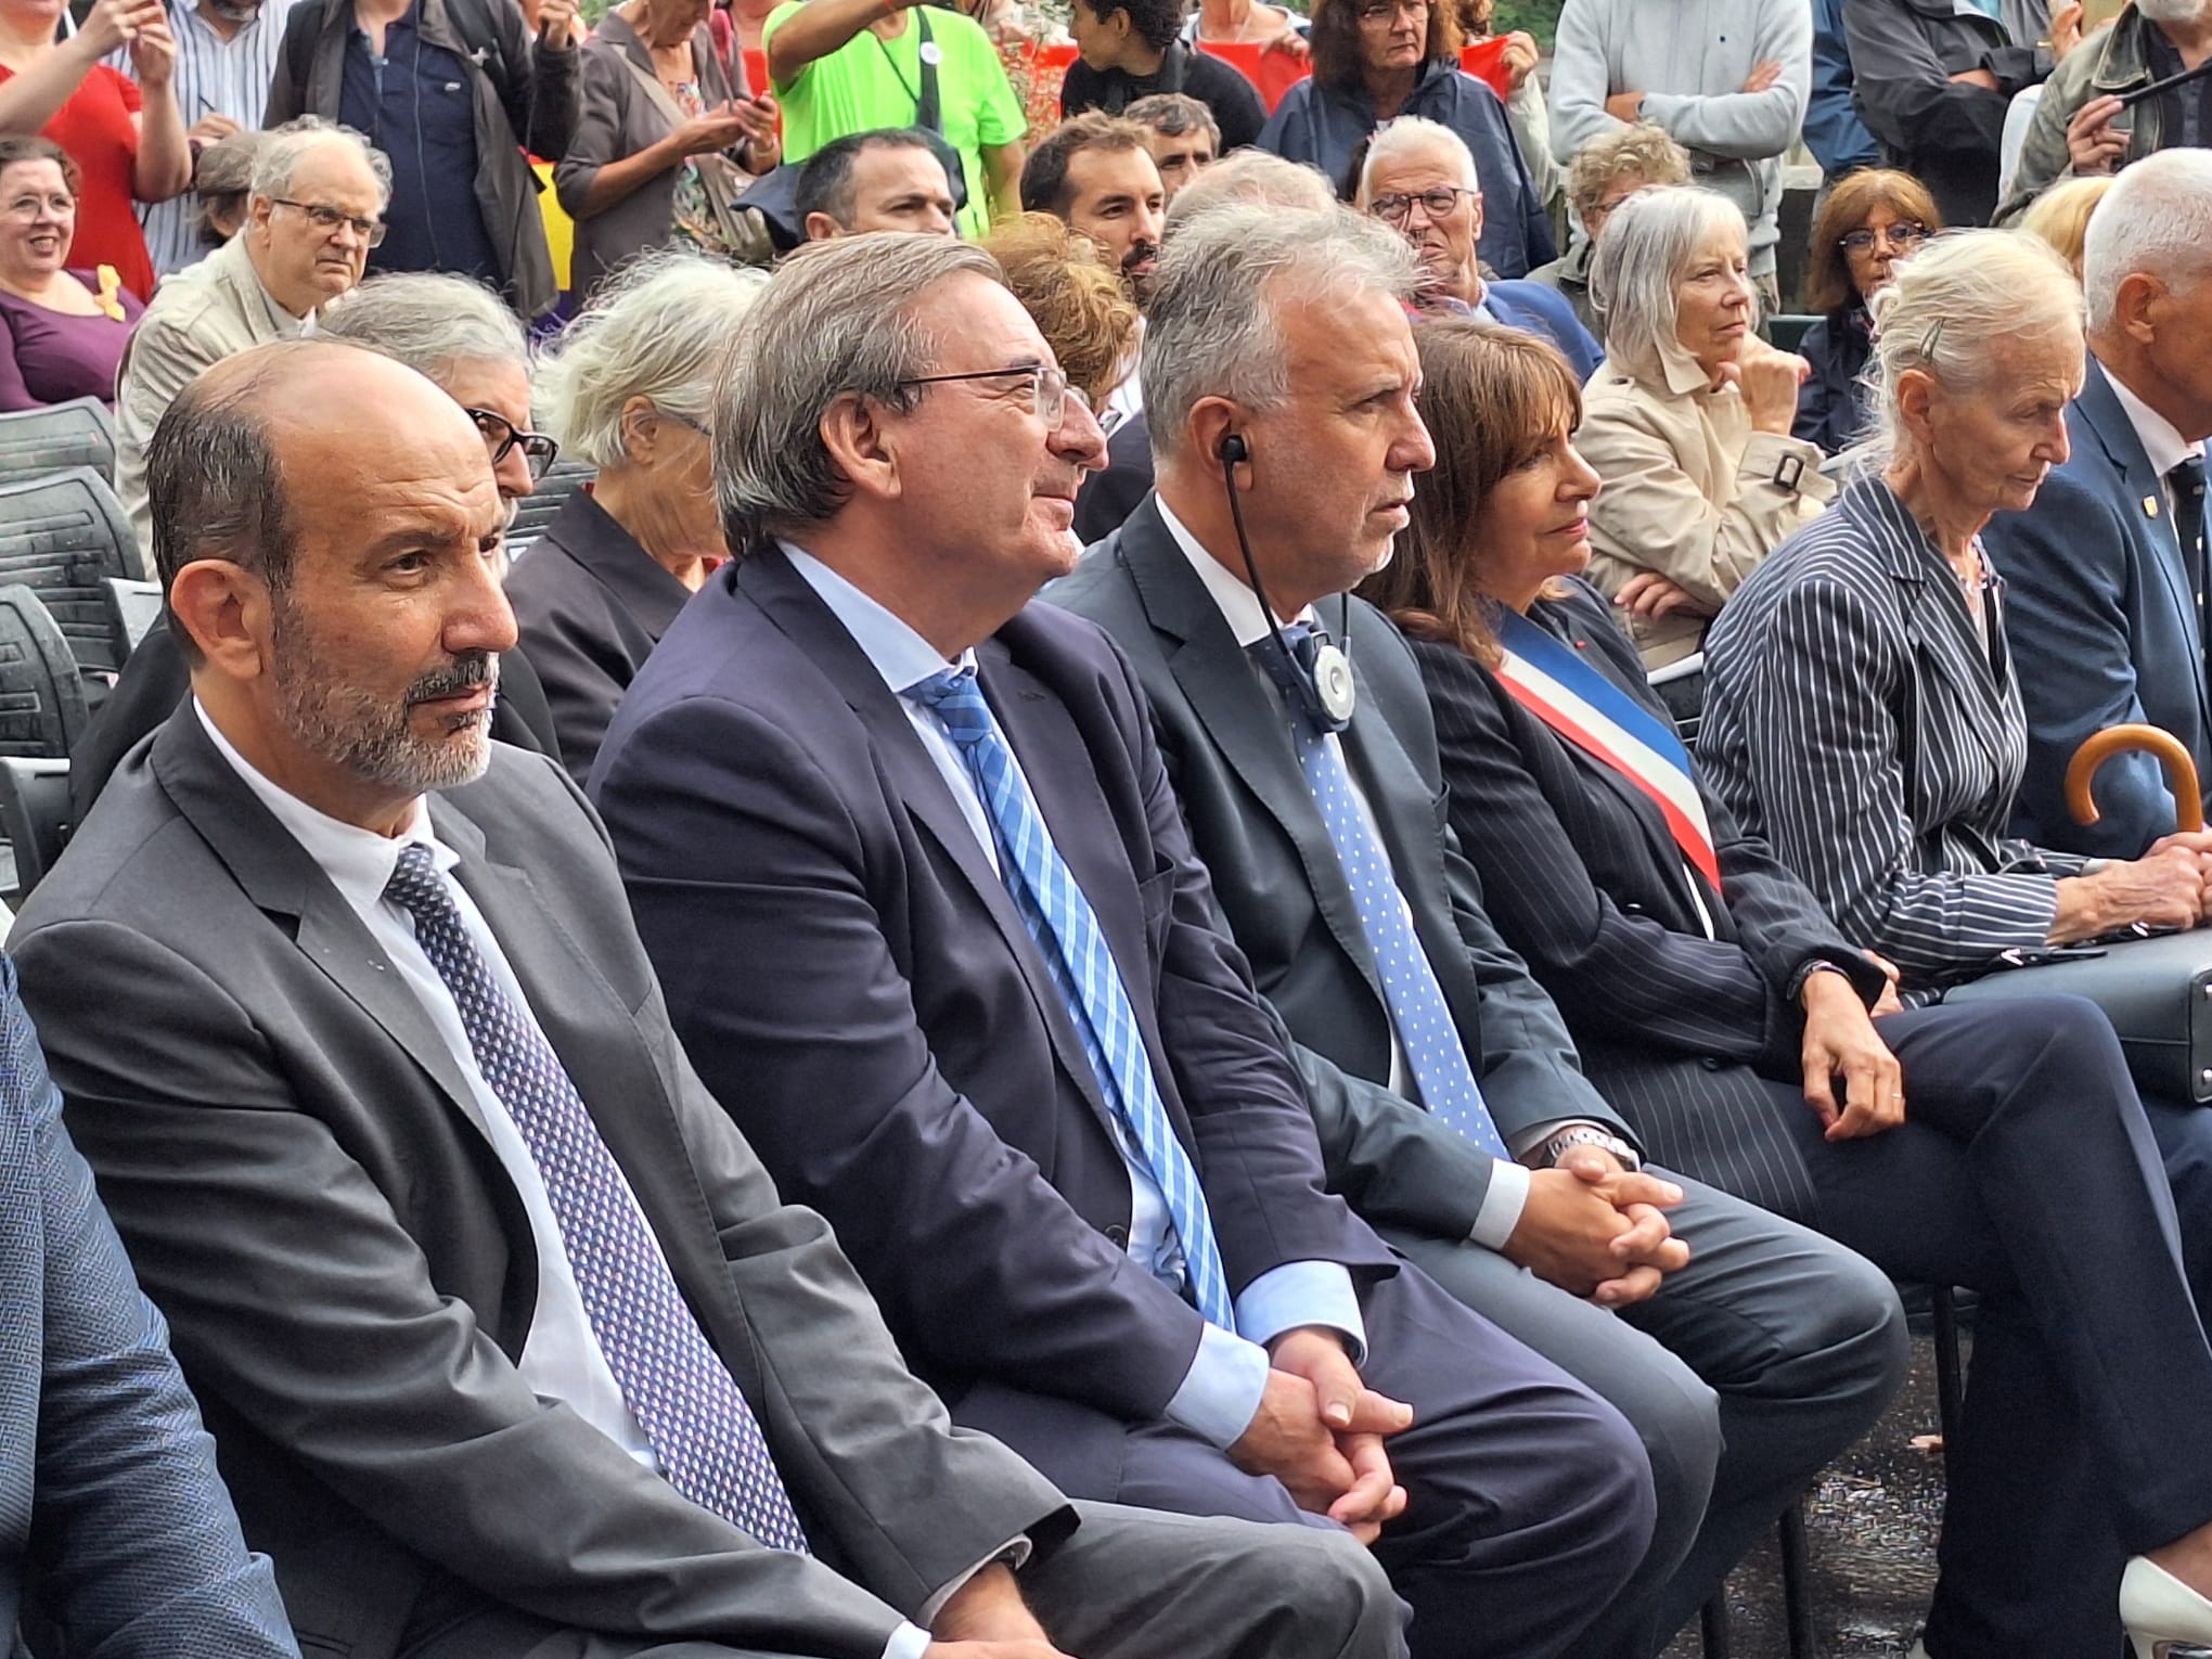
M1261 995L1294 1040L1329 1186L1376 1223L1464 1239L1493 1161L1389 1086L1389 1004L1290 726L1148 498L1046 599L1128 653L1214 898ZM1336 604L1323 606L1334 626ZM1413 659L1352 602L1358 712L1345 759L1376 812L1422 947L1509 1137L1586 1117L1628 1126L1575 1064L1551 998L1489 918L1444 823L1436 728Z

